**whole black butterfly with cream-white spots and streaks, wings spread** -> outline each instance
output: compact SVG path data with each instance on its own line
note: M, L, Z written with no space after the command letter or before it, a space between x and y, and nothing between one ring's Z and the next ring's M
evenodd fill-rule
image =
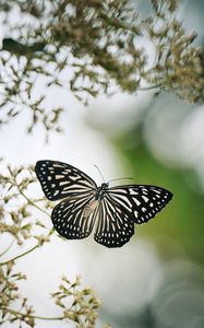
M161 187L123 185L100 187L79 168L57 161L38 161L35 172L49 200L60 200L51 220L68 239L94 238L107 247L121 247L134 234L134 223L147 222L172 198Z

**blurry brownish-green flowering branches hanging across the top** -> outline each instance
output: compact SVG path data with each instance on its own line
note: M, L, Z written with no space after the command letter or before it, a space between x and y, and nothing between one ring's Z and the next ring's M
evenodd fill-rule
M128 0L1 1L10 35L0 52L0 122L26 109L28 132L37 122L47 133L61 131L64 108L47 108L45 94L35 95L41 77L45 92L61 86L84 104L100 93L145 87L203 103L203 50L192 46L195 34L185 34L177 5L176 0L152 0L153 11L143 19ZM154 59L141 40L152 44Z

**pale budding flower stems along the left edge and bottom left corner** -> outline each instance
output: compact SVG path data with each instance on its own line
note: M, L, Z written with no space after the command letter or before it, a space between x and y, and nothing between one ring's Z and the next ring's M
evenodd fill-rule
M16 260L50 242L53 230L47 229L41 221L34 218L37 216L36 210L50 216L51 204L45 198L35 199L28 196L29 189L32 190L36 183L33 166L8 166L7 173L0 175L0 181L3 196L0 203L0 233L12 237L11 244L1 251L0 258L9 255L14 243L26 246L27 239L35 241L35 245L28 250L0 262L0 324L19 323L19 327L22 327L22 324L34 327L36 319L64 320L74 323L76 328L94 328L100 302L92 289L81 286L80 277L76 277L74 282L70 282L65 276L62 277L58 291L51 294L53 302L62 311L58 317L36 315L27 298L21 295L19 282L26 280L26 276L16 272Z

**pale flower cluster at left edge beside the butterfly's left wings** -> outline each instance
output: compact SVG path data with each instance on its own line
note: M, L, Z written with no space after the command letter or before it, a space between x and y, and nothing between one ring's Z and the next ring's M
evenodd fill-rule
M38 209L38 204L50 208L50 202L45 199L32 199L28 189L36 181L33 166L12 168L10 165L4 174L0 174L1 203L0 203L0 231L13 237L17 245L22 246L26 239L35 238L41 244L41 239L48 238L47 229L38 220L34 220L32 209ZM39 208L44 214L49 213ZM40 233L35 233L35 227L40 227ZM39 229L38 229L39 231ZM49 238L48 238L49 241Z

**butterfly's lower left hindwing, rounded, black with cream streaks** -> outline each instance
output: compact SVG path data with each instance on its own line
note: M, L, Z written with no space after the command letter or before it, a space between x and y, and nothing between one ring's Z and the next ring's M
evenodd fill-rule
M95 203L95 195L86 197L71 197L57 204L51 213L56 231L68 239L82 239L93 230L93 216L87 209Z

